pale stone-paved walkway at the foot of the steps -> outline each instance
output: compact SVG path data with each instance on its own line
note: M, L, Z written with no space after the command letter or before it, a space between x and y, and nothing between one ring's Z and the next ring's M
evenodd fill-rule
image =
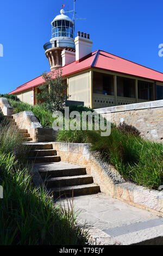
M57 201L57 204L64 203L67 204L66 199ZM115 241L123 245L163 245L163 218L152 212L130 206L103 193L74 197L73 205L75 211L81 211L79 223L86 221L88 227L99 229L96 237L102 236L99 239L104 245L114 244Z

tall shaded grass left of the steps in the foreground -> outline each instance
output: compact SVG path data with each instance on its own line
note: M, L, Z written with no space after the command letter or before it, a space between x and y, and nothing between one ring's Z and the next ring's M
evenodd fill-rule
M12 127L0 131L0 245L84 245L87 234L77 225L78 212L53 205L43 188L32 184L22 159L20 134Z

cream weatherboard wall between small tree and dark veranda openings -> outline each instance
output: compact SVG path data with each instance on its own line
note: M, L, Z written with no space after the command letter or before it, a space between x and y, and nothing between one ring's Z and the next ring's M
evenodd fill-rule
M68 100L84 101L90 107L90 72L68 78Z

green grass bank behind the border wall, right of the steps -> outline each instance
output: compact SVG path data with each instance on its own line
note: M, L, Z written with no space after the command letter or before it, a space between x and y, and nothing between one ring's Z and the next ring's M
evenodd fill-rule
M101 153L126 181L157 190L163 183L163 145L141 138L134 127L126 127L112 126L108 137L99 131L59 131L57 141L91 143L91 151Z

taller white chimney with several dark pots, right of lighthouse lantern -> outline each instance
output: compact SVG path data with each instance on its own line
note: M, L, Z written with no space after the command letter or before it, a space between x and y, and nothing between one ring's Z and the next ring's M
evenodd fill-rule
M78 31L78 35L74 40L76 45L76 62L80 59L92 53L92 40L90 40L90 35Z

